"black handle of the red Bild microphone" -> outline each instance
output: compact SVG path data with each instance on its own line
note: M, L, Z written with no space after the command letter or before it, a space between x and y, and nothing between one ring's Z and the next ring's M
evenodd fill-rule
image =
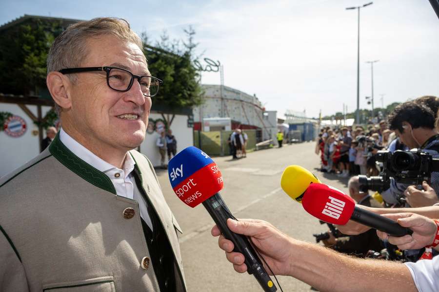
M364 210L355 206L354 213L352 213L351 220L364 224L366 226L383 231L390 236L402 237L404 235L412 235L413 230L402 227L397 222L388 219L384 216L375 214L373 212Z

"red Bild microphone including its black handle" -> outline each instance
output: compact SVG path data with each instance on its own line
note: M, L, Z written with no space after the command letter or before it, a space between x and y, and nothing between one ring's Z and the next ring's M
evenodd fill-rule
M323 183L310 184L303 195L302 205L306 212L327 223L344 225L354 220L394 237L413 233L391 219L358 207L351 197Z

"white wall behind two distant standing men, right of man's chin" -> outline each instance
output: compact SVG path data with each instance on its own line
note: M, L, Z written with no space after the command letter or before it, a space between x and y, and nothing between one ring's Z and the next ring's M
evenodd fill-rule
M162 119L161 115L158 113L151 113L150 118L153 120ZM174 121L171 125L171 130L172 134L177 139L177 153L188 146L194 146L193 128L187 127L186 115L175 115ZM159 148L156 146L157 138L159 138L157 132L154 132L153 134L146 133L145 141L140 145L140 152L145 154L154 166L160 165ZM167 164L167 157L165 164Z

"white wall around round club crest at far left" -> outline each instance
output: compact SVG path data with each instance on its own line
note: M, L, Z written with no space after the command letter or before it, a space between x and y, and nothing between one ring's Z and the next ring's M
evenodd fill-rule
M37 106L27 106L35 116L38 116ZM42 107L42 116L49 111L51 107ZM26 121L26 132L17 138L8 136L4 131L0 131L0 177L8 174L14 169L25 164L40 153L40 145L37 135L33 135L32 131L38 127L27 116L27 114L15 104L0 103L0 111L7 111L14 115L20 116ZM46 133L43 132L43 137Z

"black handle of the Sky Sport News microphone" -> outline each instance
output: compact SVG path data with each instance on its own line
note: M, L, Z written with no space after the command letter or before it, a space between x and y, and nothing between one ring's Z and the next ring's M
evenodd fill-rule
M274 285L268 273L265 271L261 261L259 260L259 257L248 241L247 237L241 234L236 234L230 231L229 227L227 227L227 219L236 218L232 215L229 208L222 200L220 194L216 193L209 199L203 201L203 205L220 228L222 235L233 242L233 245L235 246L233 251L244 255L244 262L247 265L248 274L253 274L255 276L263 291L277 291L278 289Z

